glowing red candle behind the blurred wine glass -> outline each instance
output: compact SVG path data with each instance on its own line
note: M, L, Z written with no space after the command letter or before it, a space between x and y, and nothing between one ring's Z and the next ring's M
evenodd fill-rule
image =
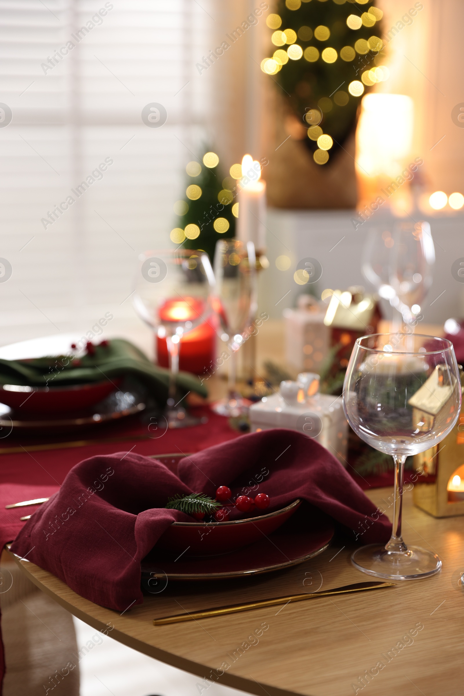
M168 299L159 308L161 323L195 322L202 314L204 304L193 297L186 299ZM216 356L216 329L211 324L203 322L195 329L188 331L179 342L179 370L203 374L214 361ZM168 347L166 338L157 335L158 365L168 367Z

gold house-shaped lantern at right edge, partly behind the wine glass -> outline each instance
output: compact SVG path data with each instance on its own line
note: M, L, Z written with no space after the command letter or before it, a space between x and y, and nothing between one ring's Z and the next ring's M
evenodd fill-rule
M459 370L462 385L461 365ZM430 429L436 413L449 398L447 393L451 395L451 389L449 373L438 365L410 399L417 427L424 431ZM445 439L429 450L415 454L413 461L419 475L413 489L414 504L434 517L464 515L464 407Z

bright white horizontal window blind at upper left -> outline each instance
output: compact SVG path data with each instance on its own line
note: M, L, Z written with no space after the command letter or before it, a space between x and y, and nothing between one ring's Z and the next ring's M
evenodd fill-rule
M206 139L211 24L206 1L0 0L2 344L133 313L137 255L168 244Z

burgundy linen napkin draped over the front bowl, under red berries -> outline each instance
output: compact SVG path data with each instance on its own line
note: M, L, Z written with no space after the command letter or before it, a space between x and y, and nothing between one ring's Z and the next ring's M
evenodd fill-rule
M138 454L81 461L24 525L12 551L86 599L125 611L143 601L143 557L171 523L191 521L164 508L168 496L201 491L214 498L218 486L228 485L234 497L260 478L253 494L271 496L271 509L302 498L355 535L362 529L363 543L390 537L390 522L330 452L303 434L273 429L184 457L178 476Z

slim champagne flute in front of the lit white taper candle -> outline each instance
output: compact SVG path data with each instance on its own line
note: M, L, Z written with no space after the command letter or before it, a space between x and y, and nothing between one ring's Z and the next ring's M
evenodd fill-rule
M220 319L218 335L229 352L228 394L212 406L221 416L239 416L243 399L237 393L237 351L247 338L257 309L256 255L253 242L220 239L214 255L214 302Z

